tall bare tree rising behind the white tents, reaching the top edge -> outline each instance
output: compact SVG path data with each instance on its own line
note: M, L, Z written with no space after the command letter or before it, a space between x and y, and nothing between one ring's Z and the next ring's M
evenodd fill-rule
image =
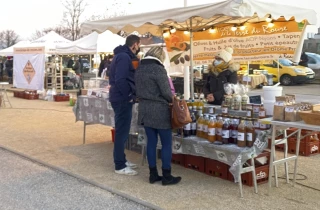
M63 22L70 30L71 40L77 40L80 38L80 18L88 4L86 0L64 0L62 4L65 7Z

